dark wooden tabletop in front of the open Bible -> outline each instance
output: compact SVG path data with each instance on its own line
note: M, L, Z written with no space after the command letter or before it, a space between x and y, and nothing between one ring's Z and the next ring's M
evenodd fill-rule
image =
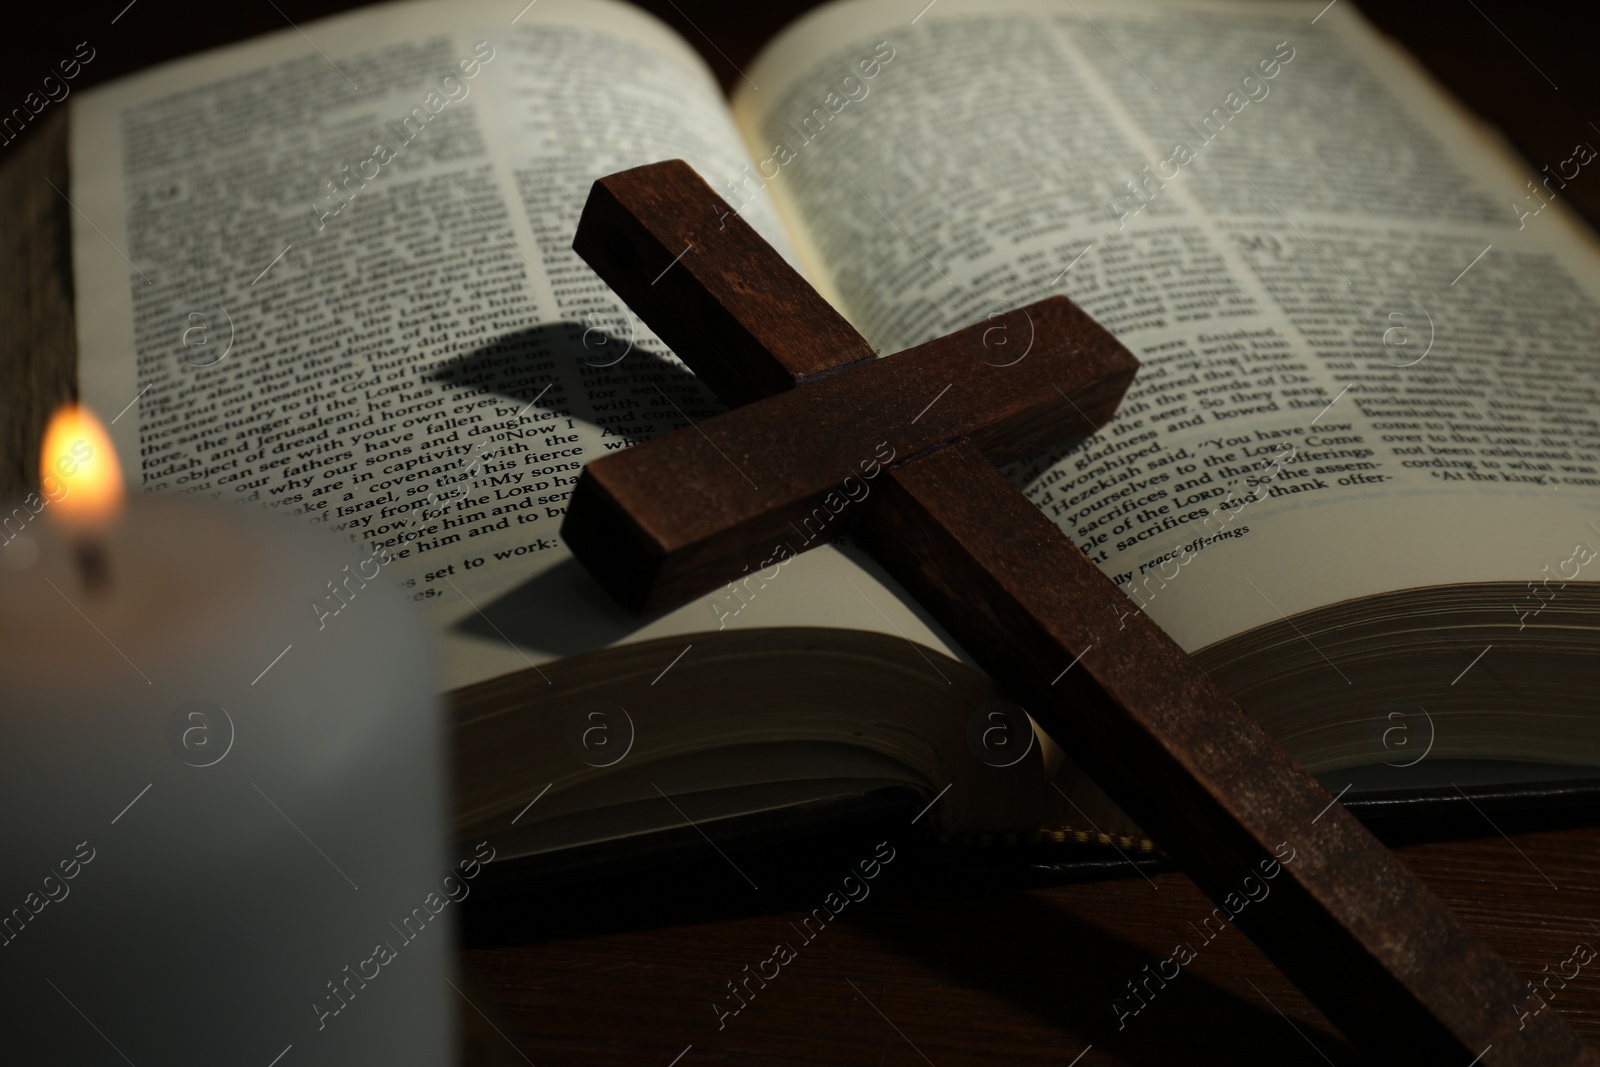
M1510 841L1488 825L1483 833L1469 841L1408 846L1400 856L1528 979L1557 973L1576 944L1600 949L1600 933L1590 925L1600 886L1600 829L1514 830ZM870 841L861 846L869 851ZM733 870L726 878L742 888ZM776 897L776 889L763 886L755 896ZM1130 872L1048 889L979 891L891 865L872 897L859 909L851 905L718 1030L710 1005L718 997L728 1000L725 984L771 953L774 941L794 939L790 923L813 904L774 901L766 910L733 918L683 917L646 929L560 933L571 901L544 897L530 907L547 915L557 933L475 947L462 961L485 997L499 1005L501 1029L539 1067L666 1067L691 1045L678 1067L1365 1062L1240 931L1229 928L1200 944L1194 926L1211 902L1178 872L1150 881ZM1126 997L1125 984L1182 941L1192 942L1198 957L1118 1029L1112 1000ZM1600 961L1565 987L1550 987L1555 997L1546 1011L1558 1011L1587 1038L1600 1038ZM1512 1005L1486 1011L1514 1017ZM1093 1048L1085 1053L1086 1046ZM1466 1067L1469 1059L1414 1062ZM1496 1062L1502 1061L1490 1053L1482 1067Z

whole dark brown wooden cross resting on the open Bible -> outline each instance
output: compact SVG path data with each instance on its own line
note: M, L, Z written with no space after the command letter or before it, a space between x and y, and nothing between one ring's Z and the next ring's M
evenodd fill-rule
M1070 301L875 358L677 160L597 181L573 248L733 405L584 469L562 534L618 600L771 566L888 442L856 537L1346 1037L1378 1062L1600 1065L995 469L1099 427L1133 379Z

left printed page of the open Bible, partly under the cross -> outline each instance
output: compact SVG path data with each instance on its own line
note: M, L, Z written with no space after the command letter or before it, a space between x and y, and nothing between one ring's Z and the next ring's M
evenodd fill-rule
M720 410L571 251L590 182L678 157L726 187L750 160L653 18L517 8L384 5L75 101L82 395L130 480L339 531L349 577L306 576L307 627L392 581L448 686L731 625L944 648L832 545L653 619L571 558L582 466ZM765 200L741 213L794 256Z

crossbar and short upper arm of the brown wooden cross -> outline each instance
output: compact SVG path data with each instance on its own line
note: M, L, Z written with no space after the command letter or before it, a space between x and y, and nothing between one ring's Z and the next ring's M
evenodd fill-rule
M730 211L682 160L651 163L597 181L573 240L696 376L744 405L584 467L562 539L635 611L840 533L894 456L966 437L992 462L1026 459L1099 429L1133 381L1133 355L1061 296L872 358Z

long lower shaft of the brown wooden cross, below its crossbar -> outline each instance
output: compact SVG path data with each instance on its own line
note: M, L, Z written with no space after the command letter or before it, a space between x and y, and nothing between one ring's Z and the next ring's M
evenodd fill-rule
M1170 843L1203 928L1237 921L1370 1057L1600 1064L1554 1013L1494 1009L1523 982L974 448L893 467L858 531Z

